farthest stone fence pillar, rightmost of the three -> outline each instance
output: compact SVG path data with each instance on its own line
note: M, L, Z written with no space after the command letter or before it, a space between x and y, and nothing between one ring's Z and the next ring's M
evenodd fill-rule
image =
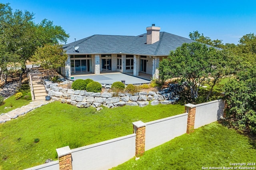
M190 134L194 132L196 105L188 103L184 106L185 106L185 111L188 113L187 134Z

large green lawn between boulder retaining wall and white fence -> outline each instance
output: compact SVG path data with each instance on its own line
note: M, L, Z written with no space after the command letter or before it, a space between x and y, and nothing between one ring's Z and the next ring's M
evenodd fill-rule
M49 103L0 124L0 169L24 169L56 159L56 148L77 148L132 134L132 122L184 113L183 105L124 106L101 111ZM38 143L34 142L39 138Z

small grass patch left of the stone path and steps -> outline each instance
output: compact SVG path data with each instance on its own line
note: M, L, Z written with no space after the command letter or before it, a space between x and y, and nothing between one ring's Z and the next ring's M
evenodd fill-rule
M22 91L22 98L18 100L16 100L15 96L12 95L8 99L4 100L4 105L0 105L0 114L7 113L9 111L17 109L18 107L28 105L31 101L32 99L30 90ZM4 109L5 107L7 107L7 109Z

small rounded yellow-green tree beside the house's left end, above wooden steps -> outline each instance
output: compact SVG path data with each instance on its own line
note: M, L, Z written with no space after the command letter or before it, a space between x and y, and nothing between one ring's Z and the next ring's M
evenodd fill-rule
M31 60L40 64L44 69L54 70L64 65L68 55L63 51L62 45L45 44L38 47Z

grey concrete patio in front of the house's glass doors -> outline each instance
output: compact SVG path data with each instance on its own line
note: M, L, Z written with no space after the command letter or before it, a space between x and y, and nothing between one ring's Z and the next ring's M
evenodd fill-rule
M134 77L132 75L120 73L120 72L107 72L100 73L100 75L95 74L75 74L71 75L74 79L69 78L69 80L75 81L77 79L92 79L98 81L100 84L113 84L116 81L125 80L125 84L145 84L150 83L150 76L143 74L140 75L143 79L139 77Z

